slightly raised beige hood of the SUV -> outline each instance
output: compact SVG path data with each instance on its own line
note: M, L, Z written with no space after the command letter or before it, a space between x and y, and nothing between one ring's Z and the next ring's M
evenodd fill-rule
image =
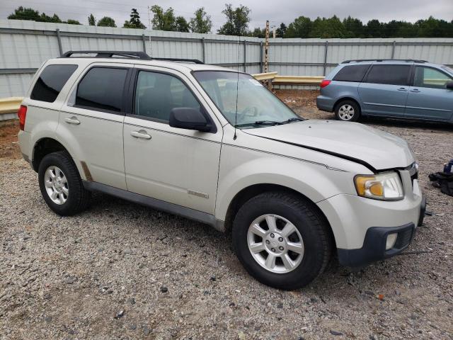
M403 168L415 161L405 140L360 123L304 120L243 132L350 159L372 170Z

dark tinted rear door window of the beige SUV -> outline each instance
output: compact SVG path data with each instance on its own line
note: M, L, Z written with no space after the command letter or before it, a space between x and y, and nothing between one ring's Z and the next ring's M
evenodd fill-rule
M77 86L75 106L120 112L127 69L93 67Z

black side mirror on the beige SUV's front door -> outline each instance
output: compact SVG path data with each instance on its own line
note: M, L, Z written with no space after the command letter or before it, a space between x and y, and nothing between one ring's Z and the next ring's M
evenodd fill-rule
M173 108L168 122L172 128L210 132L211 125L196 108Z

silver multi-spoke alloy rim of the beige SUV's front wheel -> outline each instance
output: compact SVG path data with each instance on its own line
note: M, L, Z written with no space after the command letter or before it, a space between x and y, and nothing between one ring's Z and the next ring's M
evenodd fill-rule
M260 266L273 273L288 273L302 262L304 242L299 230L279 215L254 220L247 233L248 249Z

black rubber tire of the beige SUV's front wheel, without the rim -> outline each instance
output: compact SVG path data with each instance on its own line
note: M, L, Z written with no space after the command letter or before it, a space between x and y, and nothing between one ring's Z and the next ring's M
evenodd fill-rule
M288 273L273 273L263 268L248 249L247 233L261 215L275 214L292 222L302 236L304 256L299 266ZM331 259L331 237L325 218L313 203L291 193L262 193L248 200L237 213L232 230L233 246L239 261L261 283L283 290L304 287L318 277Z

